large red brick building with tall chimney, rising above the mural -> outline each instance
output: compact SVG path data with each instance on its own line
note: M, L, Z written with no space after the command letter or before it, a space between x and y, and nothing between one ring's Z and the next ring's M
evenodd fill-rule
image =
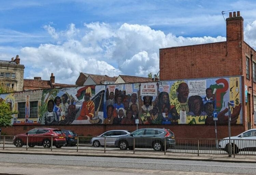
M255 50L244 42L243 18L239 11L237 15L229 13L226 30L227 41L224 42L160 49L159 75L160 81L242 75L243 124L231 129L235 135L256 127L253 110L256 107L256 59ZM245 86L248 87L247 103ZM185 129L189 132L192 127ZM214 130L214 126L202 127L201 133L209 132L210 128ZM227 127L219 129L219 132L228 132Z

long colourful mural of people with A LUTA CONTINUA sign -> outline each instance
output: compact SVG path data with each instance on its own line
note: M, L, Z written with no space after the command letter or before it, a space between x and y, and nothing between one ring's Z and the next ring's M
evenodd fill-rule
M12 124L242 124L241 77L93 85L0 94L0 100L24 116ZM31 102L38 115L31 117Z

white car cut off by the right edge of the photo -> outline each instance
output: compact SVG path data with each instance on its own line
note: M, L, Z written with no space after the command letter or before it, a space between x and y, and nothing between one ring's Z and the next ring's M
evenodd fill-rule
M243 150L256 150L256 129L247 130L237 136L230 137L231 153L239 153ZM229 137L219 141L219 148L230 153Z

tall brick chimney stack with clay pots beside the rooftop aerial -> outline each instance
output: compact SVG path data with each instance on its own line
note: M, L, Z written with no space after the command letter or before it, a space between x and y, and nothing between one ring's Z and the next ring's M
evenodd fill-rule
M240 11L229 13L229 18L226 19L227 22L227 41L237 41L244 40L244 24L243 18L240 16Z

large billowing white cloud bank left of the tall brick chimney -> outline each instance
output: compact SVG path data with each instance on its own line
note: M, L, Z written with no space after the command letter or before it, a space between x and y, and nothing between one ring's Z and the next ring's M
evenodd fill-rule
M147 76L159 71L159 49L224 41L218 36L182 37L165 34L146 25L124 23L119 28L94 22L76 29L70 24L66 31L51 25L45 30L56 44L24 47L20 58L28 71L28 78L41 76L49 80L51 73L56 83L74 84L79 72L102 75Z

